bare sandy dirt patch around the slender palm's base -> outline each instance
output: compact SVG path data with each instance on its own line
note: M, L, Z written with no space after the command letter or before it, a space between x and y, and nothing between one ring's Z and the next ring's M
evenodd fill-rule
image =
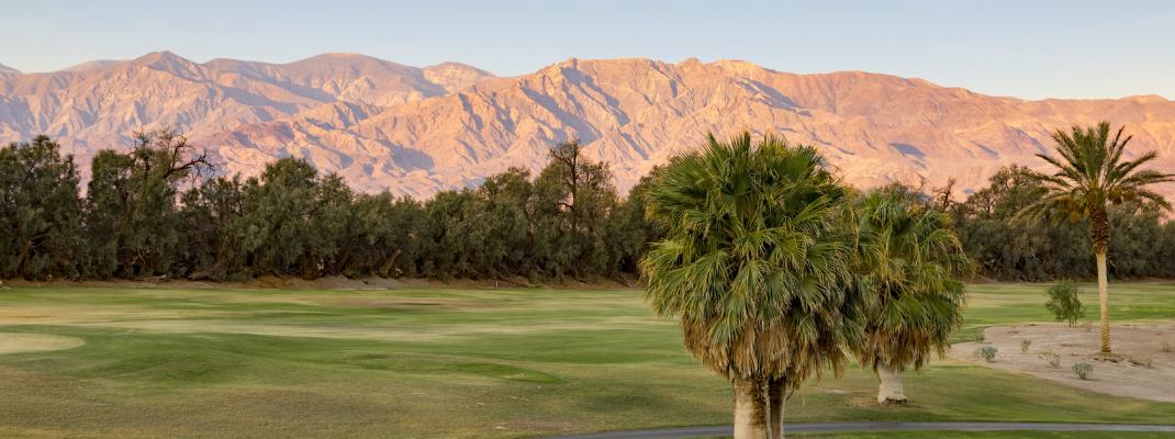
M988 327L983 336L983 342L953 345L951 356L1095 392L1175 403L1175 323L1112 326L1115 354L1108 359L1097 354L1096 325L995 326ZM1032 340L1027 352L1021 352L1022 340ZM999 350L994 362L986 362L975 353L983 345ZM1041 358L1041 353L1048 351L1060 356L1058 367ZM1077 363L1094 366L1089 379L1082 380L1073 372Z

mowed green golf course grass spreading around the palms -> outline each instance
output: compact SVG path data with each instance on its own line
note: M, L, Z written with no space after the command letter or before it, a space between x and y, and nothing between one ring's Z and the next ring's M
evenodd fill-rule
M1049 320L1043 288L972 286L959 337ZM1117 322L1175 319L1175 285L1113 288ZM19 288L0 290L5 332L85 344L0 354L0 437L511 438L731 417L727 383L636 290ZM907 407L874 392L851 367L787 420L1175 423L1175 404L951 360L907 378Z

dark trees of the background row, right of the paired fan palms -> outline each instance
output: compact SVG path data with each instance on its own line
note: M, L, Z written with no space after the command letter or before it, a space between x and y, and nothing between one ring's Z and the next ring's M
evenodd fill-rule
M1053 211L1018 217L1045 197L1034 173L1020 166L1000 169L988 185L962 202L940 189L936 198L980 276L998 281L1090 279L1096 275L1089 218ZM1116 278L1175 278L1175 222L1154 204L1108 209L1109 273Z

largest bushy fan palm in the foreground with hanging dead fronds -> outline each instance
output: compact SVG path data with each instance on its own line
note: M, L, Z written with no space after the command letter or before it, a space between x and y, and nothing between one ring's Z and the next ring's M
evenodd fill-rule
M845 189L811 147L744 133L673 158L646 215L666 238L642 259L645 298L677 317L685 347L731 380L734 437L779 438L784 400L825 366L842 370L859 333L842 288Z

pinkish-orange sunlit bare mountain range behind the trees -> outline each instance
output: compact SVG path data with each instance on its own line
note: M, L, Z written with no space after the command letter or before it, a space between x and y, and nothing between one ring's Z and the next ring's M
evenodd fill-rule
M1039 167L1050 133L1126 124L1137 150L1175 169L1175 102L1159 96L1023 101L861 72L797 75L750 62L566 60L495 77L325 54L274 65L195 63L170 53L52 74L0 74L0 141L59 137L88 167L136 129L175 127L222 171L297 156L369 191L428 197L510 167L536 169L578 139L626 190L652 167L748 129L817 146L850 183L985 185L1002 166ZM1175 188L1161 191L1175 195ZM960 194L961 195L961 194Z

